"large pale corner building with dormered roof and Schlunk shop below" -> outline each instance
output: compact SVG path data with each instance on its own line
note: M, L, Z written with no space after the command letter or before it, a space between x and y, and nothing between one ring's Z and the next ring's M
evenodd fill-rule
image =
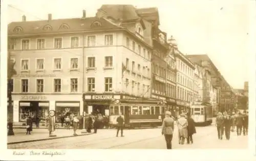
M56 110L58 121L62 111L145 113L157 105L145 100L151 96L151 23L134 7L125 10L120 15L102 7L96 17L83 11L81 18L55 20L49 14L41 21L24 16L8 25L17 71L14 122L25 121L27 114L44 121L49 109Z

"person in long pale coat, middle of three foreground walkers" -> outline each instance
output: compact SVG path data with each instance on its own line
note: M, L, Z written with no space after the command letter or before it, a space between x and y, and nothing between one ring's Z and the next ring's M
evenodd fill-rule
M181 113L180 118L177 121L177 126L178 126L178 132L179 132L179 144L184 144L185 139L187 138L187 119L185 118L185 114Z

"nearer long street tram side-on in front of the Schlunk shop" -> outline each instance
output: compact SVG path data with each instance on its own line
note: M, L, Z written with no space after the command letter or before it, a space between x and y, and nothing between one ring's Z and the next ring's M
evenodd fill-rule
M157 127L162 125L166 106L152 104L129 104L110 106L110 126L117 125L119 112L124 118L124 127Z

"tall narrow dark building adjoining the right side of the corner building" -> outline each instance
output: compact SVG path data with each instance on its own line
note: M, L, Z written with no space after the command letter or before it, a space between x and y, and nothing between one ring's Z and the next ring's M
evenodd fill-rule
M152 23L153 53L151 97L158 99L163 105L174 105L175 97L173 96L173 93L175 84L173 83L173 80L171 80L173 78L172 76L174 76L174 72L172 71L172 67L168 67L169 63L172 63L173 60L168 59L169 45L166 42L166 33L159 29L160 22L158 10L157 8L144 8L138 9L137 13ZM172 64L170 64L170 66L172 66Z

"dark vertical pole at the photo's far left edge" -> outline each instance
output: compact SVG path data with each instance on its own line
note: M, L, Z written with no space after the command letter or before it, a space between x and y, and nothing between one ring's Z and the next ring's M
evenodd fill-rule
M8 106L7 106L7 113L8 113L8 135L14 135L13 132L13 106L12 106L12 76L16 75L16 71L14 70L15 62L11 61L11 53L8 51L7 54L7 98L8 98Z

